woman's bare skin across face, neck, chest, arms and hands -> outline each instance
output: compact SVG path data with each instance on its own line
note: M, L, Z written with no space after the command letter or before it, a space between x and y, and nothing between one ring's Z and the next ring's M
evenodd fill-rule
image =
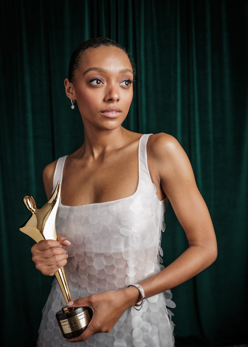
M85 73L89 68L106 69ZM131 196L138 186L138 144L142 134L122 127L132 101L133 79L125 52L113 47L100 47L86 51L74 83L65 80L66 95L75 100L85 130L83 145L66 158L63 172L61 204L85 205L114 201ZM100 78L100 82L93 78ZM91 82L90 82L91 80ZM97 84L99 83L99 84ZM101 110L108 107L122 110L116 118L108 118ZM192 278L217 256L217 243L207 206L199 193L189 159L177 140L165 133L150 135L147 143L148 168L157 196L166 196L181 223L189 247L165 269L140 282L146 298L171 289ZM56 162L43 171L47 197L51 196ZM59 241L44 240L32 247L33 261L43 274L52 276L66 265L68 246L64 237ZM93 318L87 329L70 342L85 341L99 332L109 332L122 314L140 301L135 287L106 291L71 302L72 307L89 306Z

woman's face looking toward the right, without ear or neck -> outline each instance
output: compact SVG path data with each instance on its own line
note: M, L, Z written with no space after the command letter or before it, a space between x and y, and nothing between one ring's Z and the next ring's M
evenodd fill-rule
M121 49L101 46L85 51L73 83L84 126L106 130L121 126L133 98L132 81L131 63Z

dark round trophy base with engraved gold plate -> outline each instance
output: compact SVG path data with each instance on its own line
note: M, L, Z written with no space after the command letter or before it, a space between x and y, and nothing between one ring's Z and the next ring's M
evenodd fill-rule
M90 307L64 306L56 313L60 330L66 339L80 336L88 327L92 316Z

